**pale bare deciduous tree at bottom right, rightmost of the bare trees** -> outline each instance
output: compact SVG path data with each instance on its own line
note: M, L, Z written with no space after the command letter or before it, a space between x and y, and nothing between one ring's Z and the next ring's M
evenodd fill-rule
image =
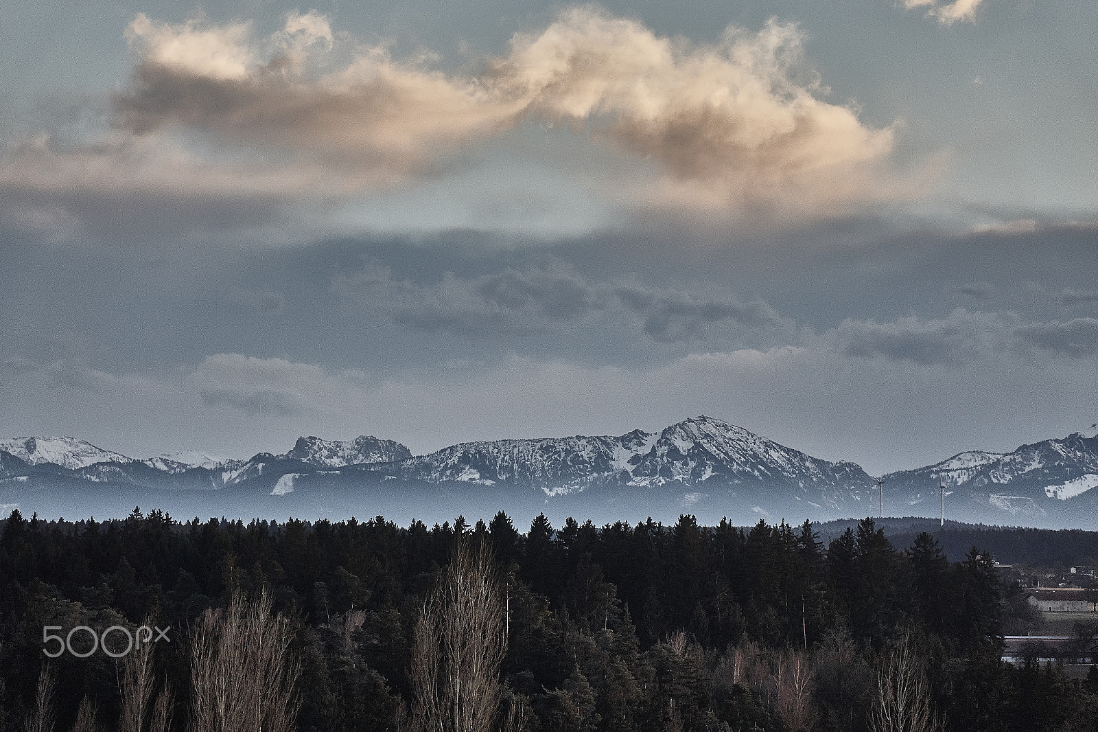
M881 659L876 697L870 714L873 732L937 732L930 684L909 635Z

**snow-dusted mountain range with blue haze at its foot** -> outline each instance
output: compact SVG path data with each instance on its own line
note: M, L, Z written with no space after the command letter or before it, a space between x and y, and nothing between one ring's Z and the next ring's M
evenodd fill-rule
M1074 525L1098 522L1096 429L1010 453L964 452L876 479L743 428L696 417L654 433L469 442L427 455L373 436L301 437L281 454L133 458L74 437L0 439L0 509L110 517L134 506L177 515L374 515L452 520L504 510L596 521L694 513L748 523L876 515ZM879 492L878 492L879 490Z

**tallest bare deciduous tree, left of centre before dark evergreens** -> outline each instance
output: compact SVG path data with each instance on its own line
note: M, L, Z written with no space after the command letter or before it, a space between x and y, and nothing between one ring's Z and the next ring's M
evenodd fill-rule
M503 687L504 607L491 555L459 542L424 602L410 679L416 732L490 732Z

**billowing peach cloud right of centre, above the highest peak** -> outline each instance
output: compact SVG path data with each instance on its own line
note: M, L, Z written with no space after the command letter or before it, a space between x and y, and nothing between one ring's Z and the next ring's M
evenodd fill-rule
M894 130L822 101L802 44L795 25L775 21L704 45L582 8L516 35L494 79L529 113L602 125L596 138L657 160L668 203L810 210L895 195L878 193L877 175Z

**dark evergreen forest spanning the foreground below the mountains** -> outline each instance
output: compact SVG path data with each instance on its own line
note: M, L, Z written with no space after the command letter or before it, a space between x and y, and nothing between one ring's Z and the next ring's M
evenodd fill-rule
M503 612L500 705L490 722L475 717L477 732L1098 729L1098 674L1000 662L1004 632L1039 619L988 552L951 564L931 535L896 547L870 519L824 545L807 523L699 526L690 515L601 528L541 515L520 532L502 512L486 525L402 528L135 510L4 522L0 732L36 719L44 628L145 619L170 626L155 656L157 683L173 690L166 724L197 729L193 639L234 597L265 591L300 666L296 729L417 729L424 634L460 635L437 608L471 597L432 605L452 589L459 545L490 553L495 600L478 607L497 600ZM101 652L49 661L55 729L77 724L85 698L122 729L124 663Z

